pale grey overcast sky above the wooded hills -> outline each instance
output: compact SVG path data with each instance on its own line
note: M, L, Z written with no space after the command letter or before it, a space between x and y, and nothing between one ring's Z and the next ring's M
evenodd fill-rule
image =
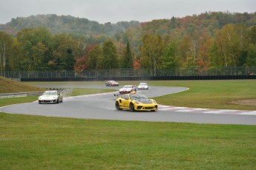
M152 21L205 12L255 13L256 0L0 0L0 24L37 14L98 21Z

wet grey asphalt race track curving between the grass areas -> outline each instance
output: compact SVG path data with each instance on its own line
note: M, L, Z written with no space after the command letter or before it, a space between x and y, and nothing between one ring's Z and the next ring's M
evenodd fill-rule
M46 87L46 86L45 86ZM104 85L67 85L50 86L59 88L114 88ZM187 90L183 87L170 86L149 86L149 90L138 91L149 98L182 92ZM157 112L130 112L117 111L114 101L118 92L108 92L96 95L82 95L67 97L63 103L39 104L21 103L0 108L0 112L42 115L48 117L64 118L86 118L102 120L137 120L137 121L157 121L157 122L186 122L186 123L217 123L217 124L246 124L256 125L256 111L236 111L217 109L193 109L174 106L159 106Z

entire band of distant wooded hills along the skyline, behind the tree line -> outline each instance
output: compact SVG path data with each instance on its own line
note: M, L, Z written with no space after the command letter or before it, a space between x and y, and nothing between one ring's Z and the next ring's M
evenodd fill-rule
M53 35L70 33L73 35L105 35L119 38L137 39L143 33L160 35L184 35L186 33L206 32L214 35L216 30L226 24L244 24L246 27L256 25L256 13L222 13L209 12L183 18L165 18L149 22L119 21L99 24L87 18L57 16L55 14L12 18L7 24L0 24L0 31L16 35L25 28L45 27ZM122 35L125 34L125 35ZM136 40L135 40L136 41Z

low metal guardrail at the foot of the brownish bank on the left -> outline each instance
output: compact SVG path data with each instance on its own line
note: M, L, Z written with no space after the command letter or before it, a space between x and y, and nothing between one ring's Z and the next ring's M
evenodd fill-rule
M54 89L54 88L52 88ZM56 89L56 88L55 88ZM57 89L56 89L57 90ZM72 92L72 89L61 89L59 90L62 94ZM16 93L0 93L0 98L17 98L17 97L27 97L27 96L39 96L43 92L16 92Z

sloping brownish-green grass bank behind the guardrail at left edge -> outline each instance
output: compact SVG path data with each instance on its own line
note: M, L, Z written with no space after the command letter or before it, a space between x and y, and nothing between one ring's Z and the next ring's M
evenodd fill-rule
M0 93L12 93L12 92L42 92L45 89L38 88L23 84L19 81L13 81L9 78L3 78L0 76Z

